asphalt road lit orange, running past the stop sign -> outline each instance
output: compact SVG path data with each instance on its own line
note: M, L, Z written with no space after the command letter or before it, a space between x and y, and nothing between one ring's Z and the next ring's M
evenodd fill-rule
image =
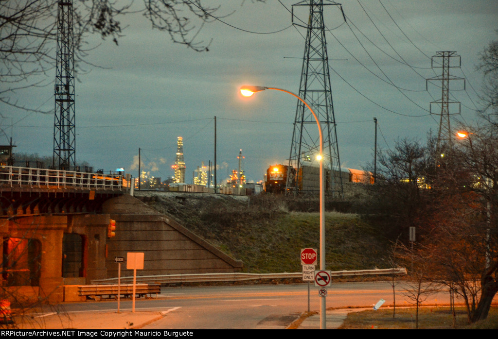
M396 286L396 305L409 306L413 301ZM310 310L320 309L318 288L311 286ZM424 297L425 298L425 297ZM327 308L367 307L380 299L392 305L392 287L388 282L334 283L328 288ZM448 304L449 293L427 296L424 305ZM58 313L88 314L114 312L116 301L71 303L56 306ZM129 312L131 301L121 302ZM157 299L137 299L137 312L162 312L165 316L143 329L284 329L308 310L307 284L241 285L162 288ZM47 310L48 311L48 310Z

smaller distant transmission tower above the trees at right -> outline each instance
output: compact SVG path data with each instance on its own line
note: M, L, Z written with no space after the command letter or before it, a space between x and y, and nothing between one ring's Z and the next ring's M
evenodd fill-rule
M455 62L452 63L452 58ZM441 81L441 99L437 101L432 101L429 106L429 111L431 114L439 115L439 130L436 143L437 154L443 154L443 148L446 144L451 144L453 136L450 129L450 115L460 114L460 102L450 100L450 81L451 80L463 80L465 89L465 79L450 75L450 68L460 68L461 59L457 52L447 51L447 52L436 52L431 58L431 67L433 69L441 69L441 75L426 79L426 89L427 84L431 81ZM441 107L441 111L438 113L432 112L432 104L437 104ZM458 112L450 113L450 104L458 104Z

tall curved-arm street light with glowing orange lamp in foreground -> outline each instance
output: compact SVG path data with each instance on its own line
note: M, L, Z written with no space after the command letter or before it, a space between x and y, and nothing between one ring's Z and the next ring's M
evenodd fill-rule
M256 92L260 92L265 89L275 89L285 93L288 93L296 98L298 98L302 103L308 107L310 112L313 114L313 117L316 120L316 124L318 125L318 133L320 135L320 154L317 157L317 160L320 163L320 270L325 270L325 189L323 183L323 134L322 134L322 126L320 125L320 120L318 119L315 112L311 109L306 101L301 98L299 95L296 95L288 90L276 87L265 87L265 86L249 86L244 85L240 88L241 94L244 96L251 96ZM290 165L290 164L289 164ZM325 329L325 297L320 298L320 328Z

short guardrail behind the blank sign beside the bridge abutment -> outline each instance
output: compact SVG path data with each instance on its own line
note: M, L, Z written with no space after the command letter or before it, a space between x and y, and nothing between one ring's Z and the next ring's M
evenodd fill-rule
M99 300L104 296L117 297L118 285L81 285L78 288L81 296L87 296L92 299ZM148 295L161 293L161 285L159 284L136 284L135 295L138 297L146 297ZM131 298L133 295L133 284L122 284L119 288L119 294L125 298Z

